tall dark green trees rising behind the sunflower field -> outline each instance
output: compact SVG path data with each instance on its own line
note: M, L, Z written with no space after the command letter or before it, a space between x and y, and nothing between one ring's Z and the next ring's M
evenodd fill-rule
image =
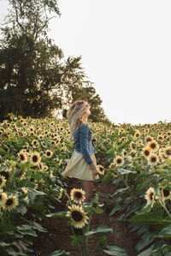
M56 0L9 0L9 15L1 26L0 118L52 116L76 99L91 104L91 119L109 122L83 71L81 57L64 59L48 38L48 25L61 15ZM64 113L64 111L63 111Z

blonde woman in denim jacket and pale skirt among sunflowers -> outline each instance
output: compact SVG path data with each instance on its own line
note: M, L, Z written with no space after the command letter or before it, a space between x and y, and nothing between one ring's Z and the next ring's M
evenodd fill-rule
M87 124L91 115L90 105L84 100L76 100L67 112L68 124L74 137L74 153L62 176L80 179L85 190L85 202L89 202L93 193L93 181L98 179L95 148L92 145L92 132Z

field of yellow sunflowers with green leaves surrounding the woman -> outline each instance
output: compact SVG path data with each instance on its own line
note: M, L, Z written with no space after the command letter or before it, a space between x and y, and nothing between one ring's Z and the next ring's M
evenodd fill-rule
M171 255L171 123L90 126L101 182L115 188L113 194L104 191L112 201L109 216L120 212L117 220L129 223L138 238L139 256ZM62 171L73 150L66 119L9 115L0 123L0 255L34 255L32 238L47 232L41 221L53 214L68 217L74 229L88 226L86 237L111 231L103 226L91 230L90 214L100 214L101 209L97 198L84 205L82 190L68 196L74 201L66 205L68 211L54 213L54 205L67 195ZM127 255L117 254L115 245L103 252Z

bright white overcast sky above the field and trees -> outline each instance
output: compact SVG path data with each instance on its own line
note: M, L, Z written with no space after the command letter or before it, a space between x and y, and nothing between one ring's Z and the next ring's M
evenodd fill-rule
M0 0L0 15L7 10ZM171 122L171 1L58 0L50 38L82 56L111 122Z

